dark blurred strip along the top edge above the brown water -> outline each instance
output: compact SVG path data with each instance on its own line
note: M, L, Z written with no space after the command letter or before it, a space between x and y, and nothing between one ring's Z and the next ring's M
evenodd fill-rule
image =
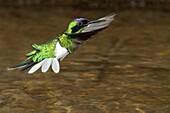
M0 0L1 6L76 7L80 9L158 9L169 10L169 0Z

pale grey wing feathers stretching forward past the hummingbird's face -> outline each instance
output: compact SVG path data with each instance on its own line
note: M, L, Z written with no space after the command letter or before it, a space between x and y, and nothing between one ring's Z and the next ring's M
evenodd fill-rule
M114 20L115 15L116 14L113 13L98 20L88 22L87 26L83 28L81 33L89 33L93 31L102 30L108 27L112 20Z

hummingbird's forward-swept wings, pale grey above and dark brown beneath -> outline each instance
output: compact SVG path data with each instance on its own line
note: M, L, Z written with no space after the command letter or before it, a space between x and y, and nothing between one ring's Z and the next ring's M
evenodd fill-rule
M112 20L114 20L115 15L116 14L113 13L98 20L90 21L80 33L68 34L74 39L73 48L77 48L80 44L90 39L93 35L107 28Z

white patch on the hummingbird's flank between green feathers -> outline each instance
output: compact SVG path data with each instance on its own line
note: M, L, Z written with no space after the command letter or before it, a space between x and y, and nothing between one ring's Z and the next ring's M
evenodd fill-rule
M56 56L56 58L62 60L68 54L69 54L69 52L67 51L67 49L64 48L64 47L61 47L60 43L57 42L56 48L55 48L55 56Z

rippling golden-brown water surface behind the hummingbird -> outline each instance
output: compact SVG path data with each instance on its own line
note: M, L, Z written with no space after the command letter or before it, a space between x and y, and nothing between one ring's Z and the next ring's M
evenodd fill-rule
M6 70L25 58L30 44L53 39L75 15L107 14L1 9L0 113L169 113L170 54L160 55L170 50L166 12L119 12L109 29L61 62L57 75Z

